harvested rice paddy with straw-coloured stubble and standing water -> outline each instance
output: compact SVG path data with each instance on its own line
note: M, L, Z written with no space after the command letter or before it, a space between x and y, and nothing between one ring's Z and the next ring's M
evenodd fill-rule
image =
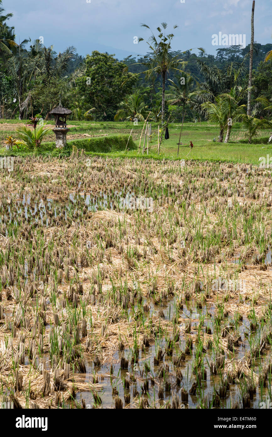
M270 168L77 152L1 170L1 402L272 399Z

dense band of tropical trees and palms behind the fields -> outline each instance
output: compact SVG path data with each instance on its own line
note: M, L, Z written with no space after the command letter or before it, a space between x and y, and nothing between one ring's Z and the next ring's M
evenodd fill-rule
M165 127L169 121L210 119L219 125L219 141L225 131L228 141L235 121L247 125L249 141L256 129L269 125L272 44L254 43L252 113L246 118L250 45L220 48L216 55L201 47L197 54L173 51L174 34L166 23L155 33L142 24L150 31L147 41L139 38L147 44L145 56L119 61L93 51L83 57L75 47L56 53L38 39L17 44L8 26L11 16L0 8L1 118L46 120L61 102L75 120L138 122L148 116Z

